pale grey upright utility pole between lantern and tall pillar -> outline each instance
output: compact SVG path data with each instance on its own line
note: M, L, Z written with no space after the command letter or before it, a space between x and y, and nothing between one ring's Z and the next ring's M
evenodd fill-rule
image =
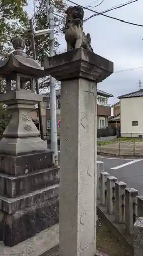
M50 56L54 56L54 13L53 4L49 7L47 0L47 22L52 29L49 35ZM57 120L56 120L56 89L55 79L50 76L50 114L51 114L51 150L54 152L54 161L58 165L58 145L57 145Z

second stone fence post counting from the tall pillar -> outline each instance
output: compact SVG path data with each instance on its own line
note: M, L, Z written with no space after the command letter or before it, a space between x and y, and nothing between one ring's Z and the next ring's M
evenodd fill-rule
M100 204L106 206L107 199L107 177L109 173L101 172L100 173Z

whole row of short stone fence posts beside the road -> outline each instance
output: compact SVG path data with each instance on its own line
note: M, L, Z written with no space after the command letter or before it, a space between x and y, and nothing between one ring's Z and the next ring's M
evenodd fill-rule
M112 216L112 223L117 224L116 227L125 227L122 234L131 238L134 256L143 255L143 196L138 196L136 189L105 172L101 161L97 161L97 199L105 215ZM142 254L137 254L138 251Z

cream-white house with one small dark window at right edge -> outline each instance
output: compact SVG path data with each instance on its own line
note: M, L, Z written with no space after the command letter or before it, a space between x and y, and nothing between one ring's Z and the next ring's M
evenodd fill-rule
M143 135L143 90L119 96L121 137Z

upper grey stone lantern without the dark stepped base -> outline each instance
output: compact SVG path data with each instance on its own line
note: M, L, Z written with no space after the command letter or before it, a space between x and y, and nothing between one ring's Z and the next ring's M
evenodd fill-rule
M23 51L22 38L15 37L12 44L15 51L0 62L0 77L6 79L6 93L0 95L0 101L12 113L0 142L0 152L18 155L46 150L46 141L39 137L40 132L28 115L33 106L42 101L42 96L35 93L35 81L45 76L44 69Z

